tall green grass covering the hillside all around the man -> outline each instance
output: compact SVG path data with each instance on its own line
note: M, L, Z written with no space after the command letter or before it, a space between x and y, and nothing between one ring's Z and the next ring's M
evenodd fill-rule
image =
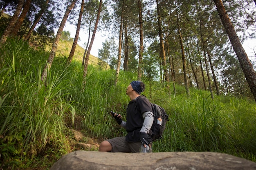
M35 50L18 40L8 40L0 49L0 168L49 169L74 150L70 128L100 142L126 134L108 114L125 120L129 97L126 87L137 75L121 71L114 86L115 71L89 65L83 88L83 68L74 60L56 57L40 82L49 52ZM154 142L154 152L222 152L256 162L256 104L248 99L215 96L184 86L149 82L146 95L164 107L170 117L164 137ZM151 96L151 97L150 97Z

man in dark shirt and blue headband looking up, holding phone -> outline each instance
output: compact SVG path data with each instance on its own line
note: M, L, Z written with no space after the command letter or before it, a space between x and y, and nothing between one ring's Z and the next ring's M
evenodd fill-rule
M145 85L140 81L132 81L126 89L126 95L130 102L126 108L126 122L121 115L113 115L117 123L126 128L128 134L125 137L115 137L101 142L101 152L139 152L141 144L146 148L152 146L152 139L148 135L153 124L152 107L146 97L140 94L145 90Z

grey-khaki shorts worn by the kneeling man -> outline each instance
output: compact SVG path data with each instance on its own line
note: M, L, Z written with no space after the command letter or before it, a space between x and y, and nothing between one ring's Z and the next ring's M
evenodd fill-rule
M113 139L108 139L108 141L112 145L111 152L126 152L126 153L135 153L139 152L139 148L141 147L141 142L128 142L125 140L126 137L115 137Z

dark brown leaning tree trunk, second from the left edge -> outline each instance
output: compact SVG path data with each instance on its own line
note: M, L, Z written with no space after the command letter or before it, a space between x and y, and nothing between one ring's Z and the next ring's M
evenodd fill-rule
M24 4L24 8L20 14L20 17L17 20L17 22L15 23L13 29L11 30L11 36L15 37L18 34L18 31L20 30L20 26L23 23L23 21L25 20L27 12L29 11L30 5L31 5L31 0L26 0L26 2Z

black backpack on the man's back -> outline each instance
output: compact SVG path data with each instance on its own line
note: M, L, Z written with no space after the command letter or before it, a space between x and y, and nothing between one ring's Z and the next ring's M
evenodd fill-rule
M151 138L153 141L157 141L162 138L162 134L164 132L166 122L169 121L169 116L166 114L164 108L162 108L161 106L158 106L157 104L154 104L151 102L150 104L153 110L154 121L148 134L151 135ZM158 118L162 119L162 124L157 124Z

